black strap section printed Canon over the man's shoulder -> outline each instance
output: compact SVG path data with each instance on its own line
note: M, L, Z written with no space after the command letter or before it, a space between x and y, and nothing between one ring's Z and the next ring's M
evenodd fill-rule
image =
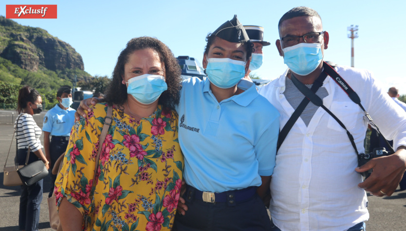
M393 153L395 152L392 148L392 146L389 144L388 140L385 138L384 135L382 135L381 131L379 131L378 126L376 126L376 124L374 122L372 122L372 118L371 116L369 116L369 114L367 113L367 111L365 110L365 108L362 106L361 104L361 99L359 98L358 94L352 90L352 88L350 87L350 85L343 79L343 77L341 77L334 68L332 68L331 65L329 65L326 62L323 62L323 67L324 70L327 72L327 74L329 74L329 76L332 77L332 79L341 87L341 89L343 89L343 91L350 97L350 99L359 105L359 107L362 109L362 111L364 112L365 116L368 118L369 123L371 123L375 128L376 131L378 132L378 135L380 135L386 142L386 144L388 145L390 151L392 151Z

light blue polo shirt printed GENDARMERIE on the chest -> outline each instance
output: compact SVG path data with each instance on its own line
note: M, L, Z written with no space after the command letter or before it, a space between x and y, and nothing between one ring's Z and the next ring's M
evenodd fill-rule
M241 80L238 87L245 92L219 103L207 78L183 82L179 143L186 183L198 190L259 186L261 175L273 173L279 114L252 82Z

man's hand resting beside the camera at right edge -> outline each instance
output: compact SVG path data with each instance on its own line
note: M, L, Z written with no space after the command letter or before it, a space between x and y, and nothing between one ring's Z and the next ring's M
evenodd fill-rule
M406 147L399 147L394 154L371 159L355 171L361 173L369 169L373 172L358 187L375 196L392 195L406 170Z

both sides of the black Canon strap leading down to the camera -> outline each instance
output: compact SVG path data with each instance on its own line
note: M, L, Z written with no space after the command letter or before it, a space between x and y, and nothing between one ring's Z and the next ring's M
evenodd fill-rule
M323 62L323 67L324 67L324 71L330 76L332 77L332 79L334 79L334 81L341 86L341 88L347 93L347 95L351 98L351 100L358 104L361 109L364 111L365 115L367 116L367 118L369 119L369 122L376 127L377 132L379 135L381 135L383 137L383 139L387 142L388 147L390 148L390 151L394 152L393 148L389 145L388 141L386 140L386 138L382 135L382 133L379 131L379 128L376 126L376 124L374 124L372 122L372 118L369 116L369 114L366 112L366 110L364 109L364 107L361 104L361 100L359 98L359 96L351 89L350 85L348 85L347 82L345 82L345 80L326 62ZM354 138L351 135L351 133L347 130L347 128L345 127L345 125L337 118L337 116L335 116L328 108L326 108L323 105L323 100L317 96L316 94L314 94L314 92L312 92L309 88L307 88L303 83L301 83L299 80L297 80L297 78L292 74L292 82L295 84L295 86L297 87L297 89L299 89L299 91L306 96L307 98L310 99L310 101L312 101L312 103L314 103L314 105L319 106L321 108L323 108L328 114L330 114L330 116L332 116L337 122L338 124L340 124L340 126L342 128L344 128L347 131L347 135L348 138L351 141L351 145L354 148L356 154L358 153L357 147L355 145L354 142Z

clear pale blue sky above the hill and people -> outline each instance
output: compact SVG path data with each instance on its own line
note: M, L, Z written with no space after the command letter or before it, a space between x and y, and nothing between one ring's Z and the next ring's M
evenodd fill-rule
M162 40L175 56L188 55L202 62L205 36L234 14L245 25L260 25L264 39L264 62L256 73L274 79L286 69L275 40L280 17L295 6L315 9L330 33L325 60L351 65L351 39L347 27L358 25L355 67L372 71L385 91L394 85L406 94L406 26L404 0L3 0L6 4L57 4L57 19L13 19L40 27L71 44L82 56L85 71L111 76L117 56L129 39L151 36Z

